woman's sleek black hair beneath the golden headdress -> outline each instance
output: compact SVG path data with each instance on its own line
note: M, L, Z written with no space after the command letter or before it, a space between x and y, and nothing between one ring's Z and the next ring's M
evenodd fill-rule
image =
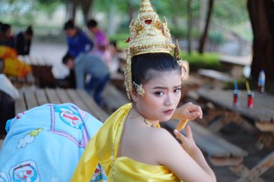
M178 70L181 72L181 67L168 53L147 53L132 57L132 81L138 85L147 82L152 77L149 75L149 70L159 72Z

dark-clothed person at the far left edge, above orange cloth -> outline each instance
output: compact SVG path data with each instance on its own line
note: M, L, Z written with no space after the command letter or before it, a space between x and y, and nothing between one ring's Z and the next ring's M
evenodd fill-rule
M12 35L12 26L6 23L1 25L0 45L15 48L15 39Z

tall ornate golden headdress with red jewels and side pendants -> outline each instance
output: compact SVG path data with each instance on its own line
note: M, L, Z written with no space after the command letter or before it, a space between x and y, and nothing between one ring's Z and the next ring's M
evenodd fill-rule
M130 23L129 29L130 37L126 40L129 43L129 48L127 48L127 63L125 65L125 86L130 100L132 91L131 58L149 52L170 53L175 49L175 57L179 63L179 46L175 46L172 42L166 18L164 18L164 22L160 20L149 0L142 0L140 12L136 20L132 20ZM136 87L135 83L134 87ZM142 95L145 92L142 90L142 85L140 87L137 89L138 93Z

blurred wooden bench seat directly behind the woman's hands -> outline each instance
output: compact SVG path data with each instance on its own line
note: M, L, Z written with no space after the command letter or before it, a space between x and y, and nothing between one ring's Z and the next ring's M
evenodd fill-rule
M173 131L177 123L178 121L171 120L164 123L164 126ZM197 146L207 153L208 160L214 166L238 166L247 156L247 151L214 134L206 127L195 123L195 121L190 121L188 125L192 129Z

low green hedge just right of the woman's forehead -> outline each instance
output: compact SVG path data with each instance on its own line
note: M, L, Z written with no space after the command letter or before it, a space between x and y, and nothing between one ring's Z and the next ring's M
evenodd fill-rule
M190 67L190 72L196 72L200 68L220 70L221 63L219 61L219 55L205 52L203 55L199 52L193 52L189 55L187 52L182 52L180 57L187 60Z

